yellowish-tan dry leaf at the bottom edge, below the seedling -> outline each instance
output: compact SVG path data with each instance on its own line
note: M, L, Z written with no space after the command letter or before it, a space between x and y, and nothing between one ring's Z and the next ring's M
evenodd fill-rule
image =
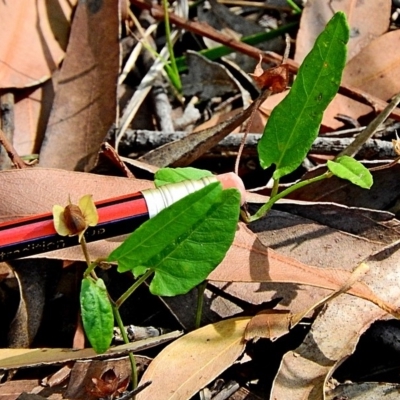
M175 340L143 374L141 383L151 380L152 384L136 399L190 399L242 354L244 330L249 320L228 319Z

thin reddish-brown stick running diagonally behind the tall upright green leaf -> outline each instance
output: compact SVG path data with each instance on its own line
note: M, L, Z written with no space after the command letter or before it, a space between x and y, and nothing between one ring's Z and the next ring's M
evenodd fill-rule
M164 11L162 7L156 5L156 4L150 4L147 3L143 0L130 0L131 4L133 4L136 7L139 7L141 9L146 9L149 10L152 16L156 19L163 20L164 19ZM194 22L194 21L188 21L185 20L181 17L178 17L174 13L169 13L169 20L172 24L175 24L176 26L183 28L187 31L190 31L192 33L198 34L200 36L205 36L208 37L209 39L212 39L218 43L221 43L225 46L228 46L240 53L246 54L249 57L255 58L258 60L260 58L260 54L263 58L263 61L265 62L274 62L276 64L280 64L282 61L282 56L274 53L274 52L268 52L268 53L262 53L259 49L256 47L253 47L247 43L239 42L238 40L232 39L229 36L218 32L216 29L212 28L210 25L204 23L204 22ZM298 63L295 61L288 59L286 61L286 64L289 65L289 70L292 73L296 73L299 69ZM350 86L350 85L344 85L342 84L339 88L339 93L350 97L352 99L355 99L359 101L360 103L371 105L373 103L376 106L376 109L378 111L383 111L385 107L387 106L387 102L370 95L369 93L366 93L365 91ZM390 117L395 119L396 121L400 121L400 110L393 110L390 114Z

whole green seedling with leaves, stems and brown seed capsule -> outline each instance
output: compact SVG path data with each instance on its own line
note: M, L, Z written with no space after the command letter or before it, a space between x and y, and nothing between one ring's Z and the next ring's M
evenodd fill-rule
M275 164L269 201L254 215L242 212L247 222L263 217L273 204L294 190L313 182L337 176L368 189L372 175L358 161L344 156L328 161L327 172L300 181L278 193L280 179L293 172L306 157L318 135L322 115L338 91L346 62L349 27L343 13L336 13L301 65L289 94L274 108L258 143L261 166ZM211 175L193 168L159 170L157 187ZM87 270L83 275L80 302L86 335L98 353L106 351L113 337L114 321L128 342L119 309L144 281L158 296L176 296L190 291L207 279L231 246L240 216L240 194L212 183L192 193L135 230L107 258L92 262L84 232L97 223L90 196L78 206L55 206L54 221L62 235L79 235ZM116 263L119 272L130 271L136 278L118 299L111 299L96 268ZM198 318L199 320L199 318ZM136 366L131 355L133 386L137 385Z

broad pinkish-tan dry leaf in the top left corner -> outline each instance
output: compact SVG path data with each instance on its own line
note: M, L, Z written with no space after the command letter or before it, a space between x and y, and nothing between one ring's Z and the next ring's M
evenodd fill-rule
M50 78L64 57L76 2L0 2L1 88L23 88Z

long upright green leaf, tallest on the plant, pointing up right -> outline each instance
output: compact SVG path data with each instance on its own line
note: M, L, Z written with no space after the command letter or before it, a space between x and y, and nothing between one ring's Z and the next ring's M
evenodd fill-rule
M276 165L274 179L293 172L317 137L323 112L340 85L348 38L346 16L338 12L303 61L289 94L273 109L258 155L264 169Z

